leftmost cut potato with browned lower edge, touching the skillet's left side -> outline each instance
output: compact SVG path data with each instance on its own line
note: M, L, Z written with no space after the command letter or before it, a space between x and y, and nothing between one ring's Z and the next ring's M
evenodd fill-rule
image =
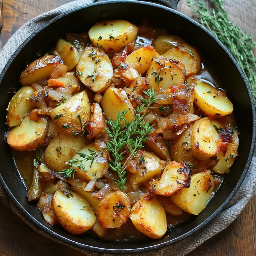
M10 130L7 135L7 143L15 150L33 150L42 144L47 134L48 122L46 118L40 118L38 122L25 117L20 126Z

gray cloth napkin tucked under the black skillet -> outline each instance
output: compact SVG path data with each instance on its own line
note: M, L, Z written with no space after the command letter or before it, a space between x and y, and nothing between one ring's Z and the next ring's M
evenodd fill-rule
M65 4L59 8L56 8L50 12L42 14L29 22L23 25L20 29L18 29L13 36L8 40L6 45L3 47L2 51L0 52L0 72L2 72L4 66L16 51L16 49L28 38L36 29L40 26L48 22L50 19L58 16L59 14L68 11L72 8L86 5L88 3L92 3L91 0L78 0L68 4ZM164 247L162 249L150 252L150 253L140 253L140 256L146 255L156 255L156 256L183 256L187 253L194 250L197 246L211 238L212 236L216 235L223 229L225 229L228 225L230 225L237 216L241 213L244 209L248 201L256 194L256 157L254 156L252 159L251 166L249 168L248 174L245 177L244 182L242 183L240 189L228 204L228 206L215 218L213 219L208 225L204 228L200 229L195 234L191 235L190 237L170 245L168 247ZM111 254L100 254L96 252L91 252L87 250L83 250L80 248L76 248L74 246L68 245L64 242L53 238L46 232L39 229L36 225L34 225L31 221L29 221L20 211L14 203L8 198L6 193L0 187L0 197L2 198L3 202L6 205L9 205L13 212L15 212L21 219L23 219L31 228L33 228L38 233L56 241L66 246L69 246L73 249L76 249L79 252L84 253L87 256L109 256ZM182 250L180 249L182 248ZM135 255L135 254L127 254L128 255Z

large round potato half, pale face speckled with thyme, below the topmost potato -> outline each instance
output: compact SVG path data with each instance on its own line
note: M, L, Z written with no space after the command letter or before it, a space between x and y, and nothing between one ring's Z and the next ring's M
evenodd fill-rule
M114 71L109 57L101 49L86 47L76 66L81 82L94 92L104 92Z

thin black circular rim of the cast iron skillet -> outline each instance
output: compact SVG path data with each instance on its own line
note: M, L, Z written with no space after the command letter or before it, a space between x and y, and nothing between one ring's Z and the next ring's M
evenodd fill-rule
M232 60L232 62L234 63L235 67L238 69L244 84L247 88L247 92L251 101L251 108L252 108L252 121L253 121L253 126L252 126L252 142L251 142L251 146L250 146L250 152L248 155L248 159L245 165L245 168L243 170L243 173L238 181L238 183L236 184L235 188L233 189L233 191L230 193L230 195L228 196L228 198L224 201L224 203L212 214L210 215L205 221L203 221L202 223L200 223L197 227L193 228L192 230L190 230L189 232L174 238L172 240L166 241L166 242L162 242L159 243L157 245L152 245L152 246L147 246L147 247L140 247L138 249L108 249L108 248L99 248L99 247L95 247L95 246L90 246L90 245L86 245L86 244L81 244L78 242L75 242L73 240L70 240L66 237L63 237L62 235L59 235L53 231L51 231L50 229L48 229L46 226L44 226L43 224L41 224L39 221L37 221L34 217L32 217L32 215L30 215L26 209L18 202L18 200L13 196L13 194L11 193L11 191L9 190L8 186L6 185L5 181L3 180L1 174L0 174L0 183L3 186L3 188L5 189L6 193L8 194L8 196L11 198L11 200L13 201L13 203L15 204L15 206L30 220L33 222L33 224L35 224L37 227L39 227L40 229L42 229L43 231L45 231L46 233L50 234L51 236L57 238L58 240L67 243L69 245L75 246L75 247L79 247L82 249L86 249L86 250L90 250L90 251L94 251L94 252L100 252L100 253L112 253L112 254L124 254L124 253L140 253L140 252L148 252L148 251L152 251L155 249L160 249L163 248L165 246L174 244L178 241L181 241L183 239L185 239L186 237L190 236L191 234L193 234L194 232L198 231L199 229L201 229L202 227L204 227L206 224L208 224L212 219L214 219L226 206L227 204L231 201L231 199L234 197L234 195L236 194L236 192L238 191L239 187L241 186L247 172L249 169L249 166L251 164L251 160L253 157L253 151L254 151L254 146L255 146L255 139L256 139L256 112L255 112L255 105L254 105L254 101L253 101L253 96L252 96L252 92L250 90L249 84L245 78L245 75L242 71L242 69L240 68L240 66L238 65L237 61L234 59L234 57L231 55L231 53L227 50L227 48L221 43L221 41L215 37L210 31L208 31L205 27L203 27L201 24L199 24L198 22L194 21L193 19L189 18L188 16L178 12L177 10L171 9L169 7L163 6L161 4L157 4L157 3L150 3L150 2L143 2L143 1L135 1L135 0L107 0L107 1L98 1L98 2L94 2L94 3L90 3L90 4L86 4L86 5L82 5L79 7L75 7L73 9L70 9L56 17L54 17L53 19L51 19L50 21L46 22L44 25L42 25L41 27L39 27L36 31L34 31L25 41L23 41L23 43L18 47L18 49L13 53L13 55L10 57L9 61L7 62L7 64L5 65L3 71L0 74L0 84L2 82L2 79L7 71L7 69L10 67L11 63L13 62L13 60L16 58L16 56L19 54L19 52L22 50L22 48L35 36L37 35L40 31L42 31L44 28L46 28L47 26L49 26L51 23L57 21L58 19L69 15L70 13L79 11L81 9L86 9L89 8L91 6L94 5L106 5L106 4L118 4L118 3L133 3L133 4L139 4L139 5L149 5L149 6L154 6L156 8L160 8L160 9L164 9L170 12L175 13L176 15L181 16L182 18L187 19L188 21L192 22L194 25L196 25L197 27L201 28L205 33L207 33L208 35L210 35L215 41L216 43L218 43L221 48L226 52L226 54L229 56L229 58Z

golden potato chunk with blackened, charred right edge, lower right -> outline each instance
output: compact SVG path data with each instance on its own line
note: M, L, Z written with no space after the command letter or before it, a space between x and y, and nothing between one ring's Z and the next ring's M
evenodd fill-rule
M157 195L170 196L181 188L190 186L190 169L185 162L169 163L160 179L151 182L151 190Z

